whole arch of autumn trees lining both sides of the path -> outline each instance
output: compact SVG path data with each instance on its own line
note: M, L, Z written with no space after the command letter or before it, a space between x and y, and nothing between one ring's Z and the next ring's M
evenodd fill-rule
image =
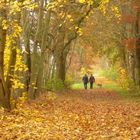
M88 52L88 47L79 47L83 43L92 46L94 54L109 56L110 64L119 61L140 85L138 4L131 0L1 0L0 104L10 109L11 99L23 92L35 99L51 79L65 85L75 48L83 65L83 52ZM120 15L133 20L120 22Z

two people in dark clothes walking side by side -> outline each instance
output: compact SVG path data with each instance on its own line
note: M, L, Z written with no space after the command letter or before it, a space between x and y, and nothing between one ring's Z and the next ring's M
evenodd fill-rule
M82 78L84 88L87 89L88 82L90 83L90 89L93 88L93 83L95 82L94 76L91 74L91 76L88 78L87 74L85 74Z

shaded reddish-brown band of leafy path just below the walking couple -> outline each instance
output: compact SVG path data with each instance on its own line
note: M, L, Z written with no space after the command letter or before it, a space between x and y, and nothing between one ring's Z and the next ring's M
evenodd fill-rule
M87 90L70 90L62 94L65 99L75 99L94 103L94 101L119 101L122 98L110 89L96 88ZM62 97L61 97L62 98Z

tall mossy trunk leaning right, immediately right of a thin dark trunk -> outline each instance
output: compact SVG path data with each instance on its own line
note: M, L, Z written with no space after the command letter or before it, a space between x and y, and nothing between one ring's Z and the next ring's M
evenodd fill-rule
M36 91L37 91L37 79L38 79L38 73L39 73L39 62L40 62L40 55L38 52L38 47L41 48L41 43L39 38L42 38L42 31L43 31L43 6L44 6L44 0L39 0L40 6L39 6L39 14L38 14L38 23L37 23L37 31L35 34L34 39L34 46L33 46L33 54L32 54L32 60L31 60L31 78L30 78L30 88L28 97L30 99L35 99L36 97Z

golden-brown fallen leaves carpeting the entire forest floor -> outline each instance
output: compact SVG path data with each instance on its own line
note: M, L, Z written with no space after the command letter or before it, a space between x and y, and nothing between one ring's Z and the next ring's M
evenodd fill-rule
M140 140L140 103L105 89L44 95L0 110L1 140ZM52 96L52 97L51 97Z

